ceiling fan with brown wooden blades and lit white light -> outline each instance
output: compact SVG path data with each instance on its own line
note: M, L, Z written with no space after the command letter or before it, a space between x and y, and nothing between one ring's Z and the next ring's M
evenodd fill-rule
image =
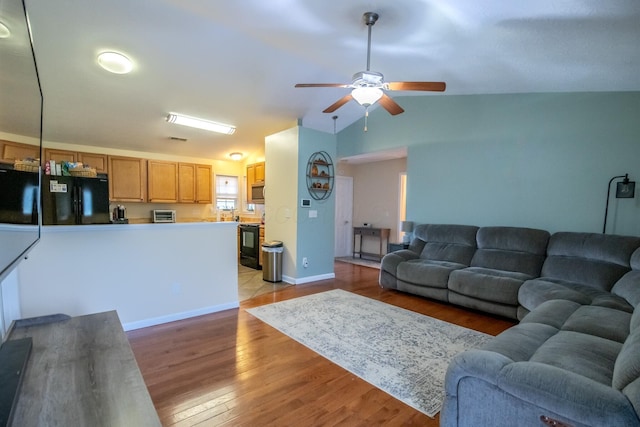
M375 12L365 12L363 15L364 23L369 30L369 39L367 43L367 70L360 71L353 75L353 80L349 84L342 83L298 83L295 87L344 87L352 88L351 93L343 96L323 113L333 113L347 102L354 99L358 104L366 108L365 118L369 114L369 106L380 102L380 105L390 114L396 115L403 113L404 110L384 91L389 90L417 90L430 92L443 92L446 88L444 82L385 82L382 73L371 71L369 69L371 62L371 27L378 20L378 14ZM366 124L365 124L366 130Z

